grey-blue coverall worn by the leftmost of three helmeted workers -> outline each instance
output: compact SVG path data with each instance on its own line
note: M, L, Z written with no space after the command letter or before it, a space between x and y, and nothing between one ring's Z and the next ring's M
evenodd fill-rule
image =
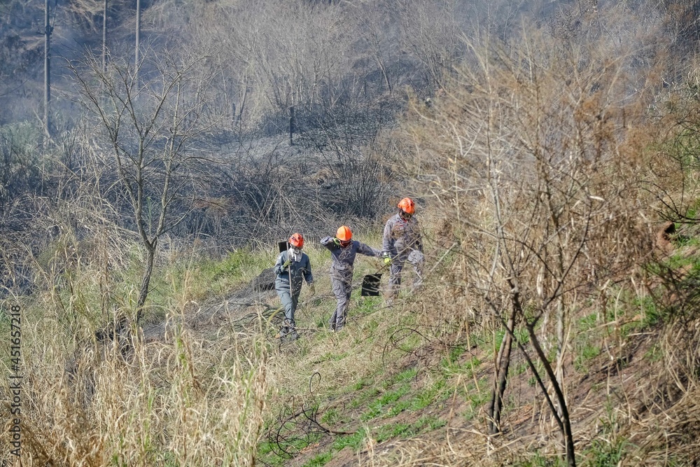
M299 302L299 293L302 291L302 277L306 279L309 285L314 282L314 276L311 275L311 263L306 253L301 253L299 261L293 260L288 267L282 267L288 258L293 257L293 255L290 256L290 250L279 253L277 262L274 264L274 273L277 275L276 279L274 279L274 290L279 295L279 300L284 307L285 318L284 325L279 332L280 337L287 333L292 333L293 335L296 333L294 312ZM292 278L291 290L289 284L290 275Z

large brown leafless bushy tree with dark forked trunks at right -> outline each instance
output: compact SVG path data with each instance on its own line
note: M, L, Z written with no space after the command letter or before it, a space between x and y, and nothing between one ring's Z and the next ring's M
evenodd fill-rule
M615 8L601 15L611 24L620 19ZM650 163L657 155L640 151L658 131L645 113L651 96L619 99L634 80L654 76L663 54L632 76L625 53L610 66L608 36L587 37L582 48L558 38L567 43L560 48L539 28L523 26L521 43L467 41L472 61L445 86L445 97L428 108L412 102L402 137L415 148L402 157L426 181L424 193L459 244L452 270L443 273L449 293L440 300L432 292L423 319L436 318L446 330L458 322L449 317L454 313L481 323L485 333L500 332L488 433L507 426L509 370L519 354L538 387L540 412L549 414L533 428L538 445L560 451L551 432L556 422L566 463L575 466L583 447L575 446L570 416L577 313L608 279L629 276L650 258L649 225L659 202L648 183L677 180L654 171L673 163ZM445 303L450 295L456 307ZM515 433L503 438L527 445Z

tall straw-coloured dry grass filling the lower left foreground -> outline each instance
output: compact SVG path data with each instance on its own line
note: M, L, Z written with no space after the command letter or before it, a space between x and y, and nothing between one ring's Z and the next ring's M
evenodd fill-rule
M82 245L72 246L57 249L43 269L54 285L20 300L22 465L255 465L269 390L262 333L195 333L185 324L192 307L186 271L160 290L170 298L165 337L134 340L125 355L104 328L102 295L111 287L114 325L117 316L133 316L134 291L104 282L99 248L94 261L59 260ZM6 362L2 371L9 372ZM7 379L2 384L8 393ZM3 420L9 409L0 407Z

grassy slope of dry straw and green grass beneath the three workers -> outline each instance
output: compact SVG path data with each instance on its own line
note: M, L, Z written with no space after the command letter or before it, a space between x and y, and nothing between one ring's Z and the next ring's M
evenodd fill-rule
M379 242L376 234L360 238ZM679 249L650 267L650 277L682 270L687 284L700 270L697 241L678 234L675 244ZM73 247L80 250L79 244ZM474 463L488 454L493 463L507 458L523 466L558 465L552 449L557 433L521 358L511 367L504 424L510 439L521 438L514 446L534 449L523 452L498 438L489 448L484 405L503 332L468 320L461 331L440 328L437 309L447 299L441 295L440 267L423 293L406 292L394 307L356 291L349 326L335 335L325 329L335 306L326 274L330 258L309 245L318 295L302 292L297 314L302 337L280 344L267 337L272 323L262 315L269 309L264 305L247 310L261 312L246 321L248 328L236 321L241 316L220 326L183 324L200 304L225 300L272 265L274 252L241 249L221 260L190 253L163 257L145 323L167 323L165 338L137 345L125 362L109 343L94 341L105 321L100 275L87 263L61 259L69 250L57 248L53 258L43 260L45 267L62 264L52 289L19 298L23 447L30 465L48 459L83 465L252 465L258 459L321 466L357 462L356 455L380 465L417 465L419 452L448 463ZM133 253L127 267L109 271L111 302L122 309L135 301L137 258ZM377 260L360 257L356 279L378 267ZM657 281L652 291L661 295L667 288ZM659 300L624 283L608 296L615 300L602 305L590 300L572 317L567 388L579 420L578 452L587 465L617 465L615 459L631 461L649 450L625 413L632 404L622 402L621 395L633 393L630 374L620 377L623 370L657 377L671 355L664 323L672 321L673 308L657 306ZM254 299L277 304L274 293ZM525 333L518 332L525 342ZM1 334L8 342L6 321ZM449 449L448 428L457 441ZM551 439L542 442L535 433ZM683 454L669 454L674 456L682 465Z

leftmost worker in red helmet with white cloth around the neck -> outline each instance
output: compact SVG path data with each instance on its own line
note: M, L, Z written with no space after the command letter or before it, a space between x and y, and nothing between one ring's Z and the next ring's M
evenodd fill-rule
M302 253L304 247L304 237L300 233L295 233L289 237L290 247L282 251L277 256L274 265L274 290L279 295L279 300L284 307L284 321L279 330L279 337L289 335L296 340L299 335L294 321L294 312L299 302L299 293L302 290L302 277L306 280L311 295L316 293L314 287L314 276L311 274L311 262L306 253Z

